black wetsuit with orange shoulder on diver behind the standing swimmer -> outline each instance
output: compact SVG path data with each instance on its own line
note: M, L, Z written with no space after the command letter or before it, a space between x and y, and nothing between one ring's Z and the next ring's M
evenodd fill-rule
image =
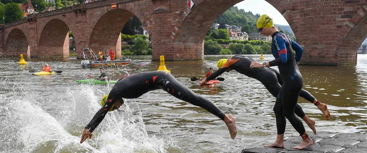
M260 81L265 88L274 96L277 97L280 91L281 85L283 85L283 81L280 78L279 71L273 68L250 68L251 62L255 60L251 59L247 56L236 55L231 57L221 68L217 71L213 72L211 75L207 77L207 81L217 78L219 75L228 70L228 68L235 70L247 77L257 79ZM299 96L305 98L306 100L313 102L315 97L312 96L308 91L301 90ZM297 116L303 118L305 116L305 112L302 110L301 106L298 104L295 107L294 112Z

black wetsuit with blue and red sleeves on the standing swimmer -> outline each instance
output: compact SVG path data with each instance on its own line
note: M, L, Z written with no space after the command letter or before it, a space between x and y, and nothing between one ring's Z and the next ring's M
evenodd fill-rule
M298 95L303 86L303 78L296 61L301 59L303 49L280 31L272 34L271 49L275 60L270 61L269 65L278 66L280 78L283 81L274 106L277 133L284 134L287 118L295 130L303 135L305 127L301 120L294 115Z

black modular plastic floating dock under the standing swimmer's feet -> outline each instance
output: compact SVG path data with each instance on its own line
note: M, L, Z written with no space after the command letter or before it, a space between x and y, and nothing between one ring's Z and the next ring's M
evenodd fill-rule
M313 145L305 149L293 149L301 143L301 136L284 140L284 148L254 147L241 153L367 153L367 134L318 132L309 134Z

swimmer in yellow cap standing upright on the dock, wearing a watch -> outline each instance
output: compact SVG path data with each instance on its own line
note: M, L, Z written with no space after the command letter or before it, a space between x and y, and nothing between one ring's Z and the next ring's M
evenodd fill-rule
M298 70L298 63L301 60L303 49L296 42L292 41L286 34L278 31L273 25L273 19L264 14L257 20L257 29L260 34L272 36L272 54L275 60L250 64L250 68L267 68L277 66L283 84L277 95L274 112L277 125L277 139L274 143L265 145L266 147L284 147L284 133L286 129L286 118L302 137L302 142L293 148L304 149L313 144L312 140L303 126L302 121L294 114L297 105L298 95L303 86L303 78Z

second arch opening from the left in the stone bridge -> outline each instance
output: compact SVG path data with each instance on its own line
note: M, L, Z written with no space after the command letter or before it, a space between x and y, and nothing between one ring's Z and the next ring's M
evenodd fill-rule
M69 57L68 31L69 26L62 20L49 20L39 36L39 57Z

